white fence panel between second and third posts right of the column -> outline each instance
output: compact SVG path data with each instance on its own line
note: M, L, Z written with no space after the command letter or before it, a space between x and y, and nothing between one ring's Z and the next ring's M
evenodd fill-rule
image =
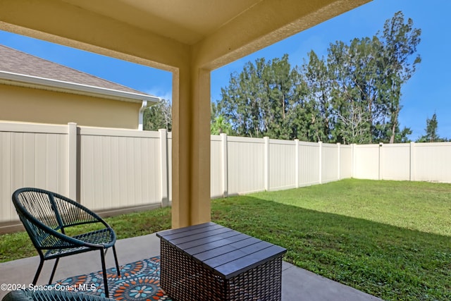
M296 145L294 141L269 140L269 190L296 187Z

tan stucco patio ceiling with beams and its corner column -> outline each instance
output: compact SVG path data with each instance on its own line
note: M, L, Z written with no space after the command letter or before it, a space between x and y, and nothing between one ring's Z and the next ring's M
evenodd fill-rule
M0 30L173 73L178 228L211 219L211 70L369 1L2 0Z

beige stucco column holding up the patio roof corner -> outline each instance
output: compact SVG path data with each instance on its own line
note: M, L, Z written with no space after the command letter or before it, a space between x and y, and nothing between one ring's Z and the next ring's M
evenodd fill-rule
M172 227L211 219L210 72L173 73Z

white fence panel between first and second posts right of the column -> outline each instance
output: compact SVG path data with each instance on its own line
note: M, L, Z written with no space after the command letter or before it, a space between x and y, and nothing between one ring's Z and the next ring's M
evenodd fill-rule
M264 140L228 137L228 194L264 190Z

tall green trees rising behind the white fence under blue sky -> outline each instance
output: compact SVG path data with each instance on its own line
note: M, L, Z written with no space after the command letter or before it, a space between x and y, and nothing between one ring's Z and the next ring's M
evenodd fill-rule
M397 12L373 37L331 43L326 58L312 50L295 67L288 54L248 62L211 104L211 133L343 144L408 142L412 130L398 121L401 89L421 63L420 36L412 19ZM144 113L146 130L171 126L166 100ZM434 114L418 141L446 141L437 127Z

